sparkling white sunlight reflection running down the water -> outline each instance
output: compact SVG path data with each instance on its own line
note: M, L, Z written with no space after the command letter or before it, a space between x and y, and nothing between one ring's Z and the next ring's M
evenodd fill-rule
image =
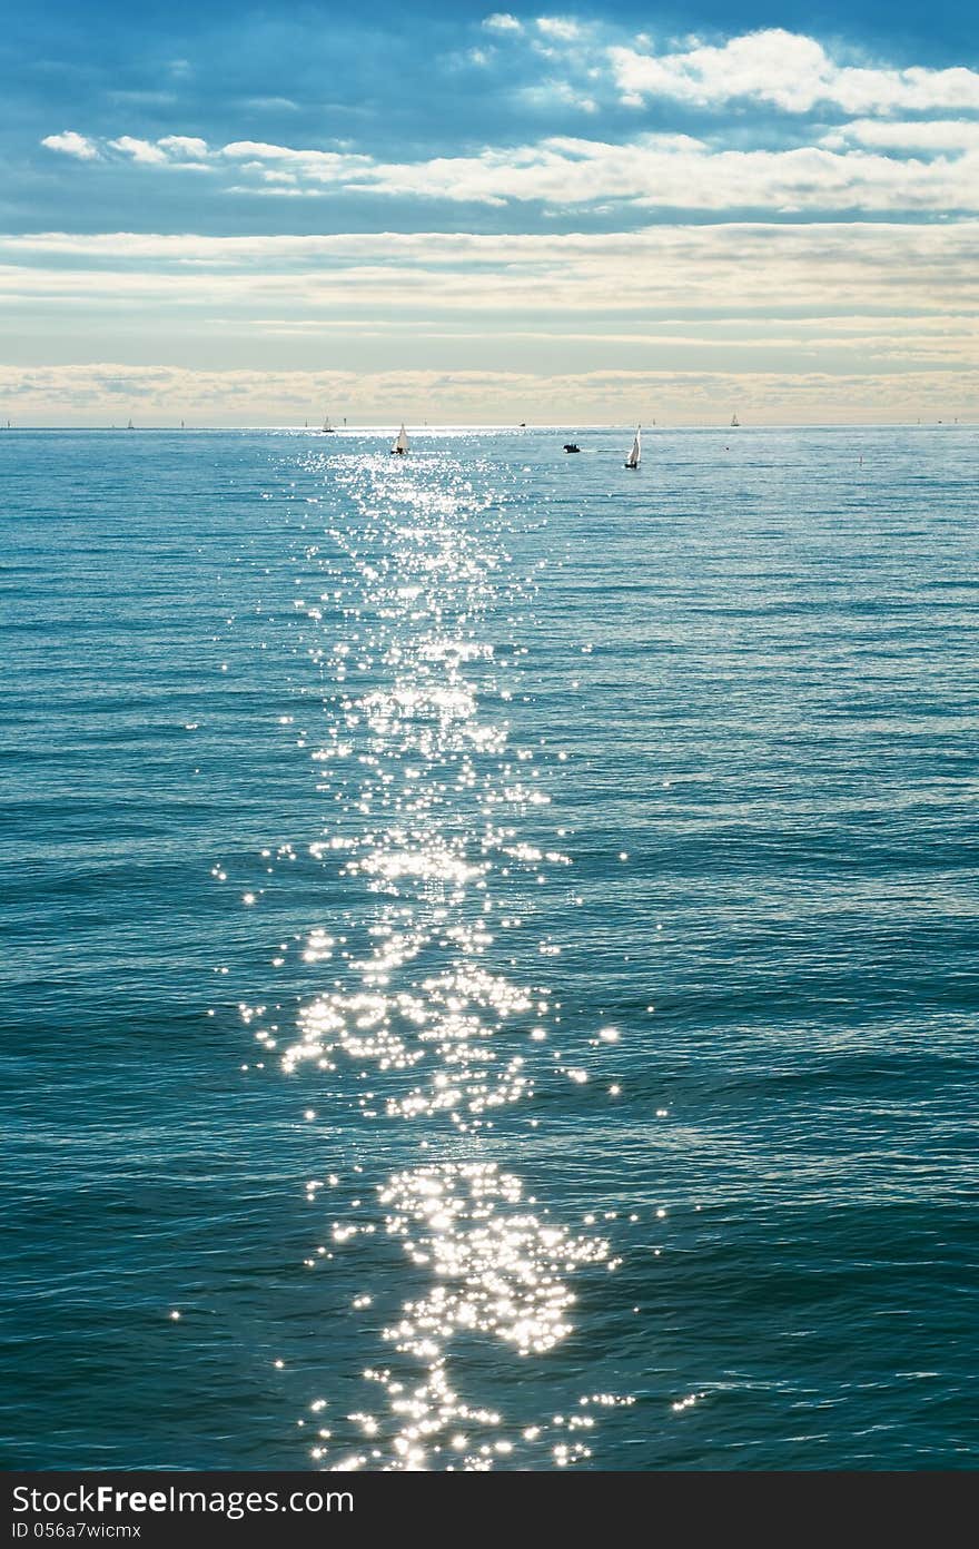
M421 1289L378 1329L392 1360L364 1377L380 1403L344 1417L362 1445L335 1455L331 1422L310 1456L325 1468L567 1467L590 1456L592 1411L620 1400L586 1394L573 1414L527 1425L468 1402L454 1377L474 1341L499 1368L547 1357L573 1327L573 1278L618 1262L603 1238L553 1222L483 1151L493 1115L530 1101L542 1077L589 1083L582 1050L565 1066L548 1047L547 988L516 982L503 954L510 932L533 931L514 883L570 866L541 841L536 751L508 744L524 647L499 640L500 620L534 582L511 573L502 513L455 454L406 466L331 449L308 454L304 472L327 522L304 553L301 584L310 589L311 567L318 595L293 599L319 705L302 728L294 716L282 723L301 733L324 801L305 847L344 881L350 909L311 922L297 943L325 982L291 1032L277 1008L242 1013L265 1049L282 1038L282 1070L319 1101L308 1118L339 1097L369 1123L409 1125L426 1152L376 1185L373 1216L356 1199L361 1218L328 1228L333 1252L378 1230L398 1241ZM291 846L276 857L291 858ZM561 946L533 950L556 957ZM592 1046L617 1038L601 1029ZM322 1188L311 1179L307 1199ZM331 1258L319 1244L305 1266ZM355 1310L370 1315L372 1290Z

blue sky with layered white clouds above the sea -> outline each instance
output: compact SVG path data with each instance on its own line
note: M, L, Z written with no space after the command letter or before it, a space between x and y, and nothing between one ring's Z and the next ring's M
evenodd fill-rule
M14 424L979 418L971 5L5 11Z

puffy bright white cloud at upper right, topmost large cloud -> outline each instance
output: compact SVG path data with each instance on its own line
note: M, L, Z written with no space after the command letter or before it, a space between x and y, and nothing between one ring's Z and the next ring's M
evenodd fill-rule
M720 107L736 98L768 102L787 113L832 104L847 113L979 108L979 73L967 68L906 70L836 64L813 37L767 28L722 46L654 54L613 46L609 60L623 101L672 98Z

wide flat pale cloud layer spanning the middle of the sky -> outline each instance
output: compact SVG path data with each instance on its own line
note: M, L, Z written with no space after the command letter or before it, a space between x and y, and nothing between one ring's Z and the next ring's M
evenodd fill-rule
M302 322L398 314L420 322L468 313L558 333L569 314L666 313L739 318L979 313L979 222L850 226L727 223L634 232L474 235L350 232L203 237L48 232L0 239L0 296L73 307L139 302L235 308ZM596 327L601 333L604 322ZM751 327L754 327L751 324Z

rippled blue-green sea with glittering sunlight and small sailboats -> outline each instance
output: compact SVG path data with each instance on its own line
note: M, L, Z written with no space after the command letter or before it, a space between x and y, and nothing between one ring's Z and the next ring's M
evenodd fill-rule
M573 434L0 437L5 1467L976 1467L977 432Z

